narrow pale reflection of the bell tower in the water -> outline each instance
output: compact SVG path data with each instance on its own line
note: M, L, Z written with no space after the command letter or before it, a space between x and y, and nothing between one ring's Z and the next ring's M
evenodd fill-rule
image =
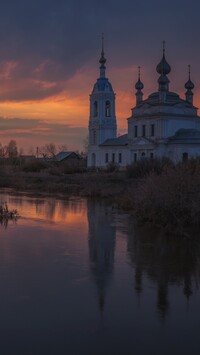
M107 212L106 212L107 211ZM115 254L116 227L110 210L103 203L88 201L89 256L95 281L100 312L103 313L106 289L112 277Z

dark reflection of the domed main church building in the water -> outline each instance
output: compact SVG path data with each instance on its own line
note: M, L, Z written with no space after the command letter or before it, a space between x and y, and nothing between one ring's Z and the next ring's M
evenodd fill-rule
M145 278L156 285L156 308L164 318L170 307L170 288L178 285L189 301L199 285L199 245L183 240L170 240L154 232L128 233L127 251L134 268L134 288L145 292Z

